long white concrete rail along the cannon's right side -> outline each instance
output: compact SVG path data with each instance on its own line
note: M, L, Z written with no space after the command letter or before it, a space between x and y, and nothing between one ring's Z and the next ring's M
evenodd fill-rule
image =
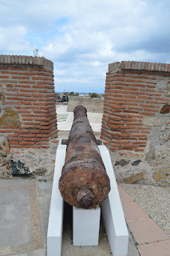
M113 165L109 150L105 146L98 146L98 148L101 152L101 158L104 162L111 186L108 197L101 203L101 215L104 219L105 230L113 255L126 256L128 253L128 229L113 172Z

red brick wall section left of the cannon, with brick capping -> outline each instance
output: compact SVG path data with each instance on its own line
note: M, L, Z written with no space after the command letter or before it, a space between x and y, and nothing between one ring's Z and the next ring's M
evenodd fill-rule
M11 148L48 148L57 137L53 85L53 62L0 55L0 134Z

